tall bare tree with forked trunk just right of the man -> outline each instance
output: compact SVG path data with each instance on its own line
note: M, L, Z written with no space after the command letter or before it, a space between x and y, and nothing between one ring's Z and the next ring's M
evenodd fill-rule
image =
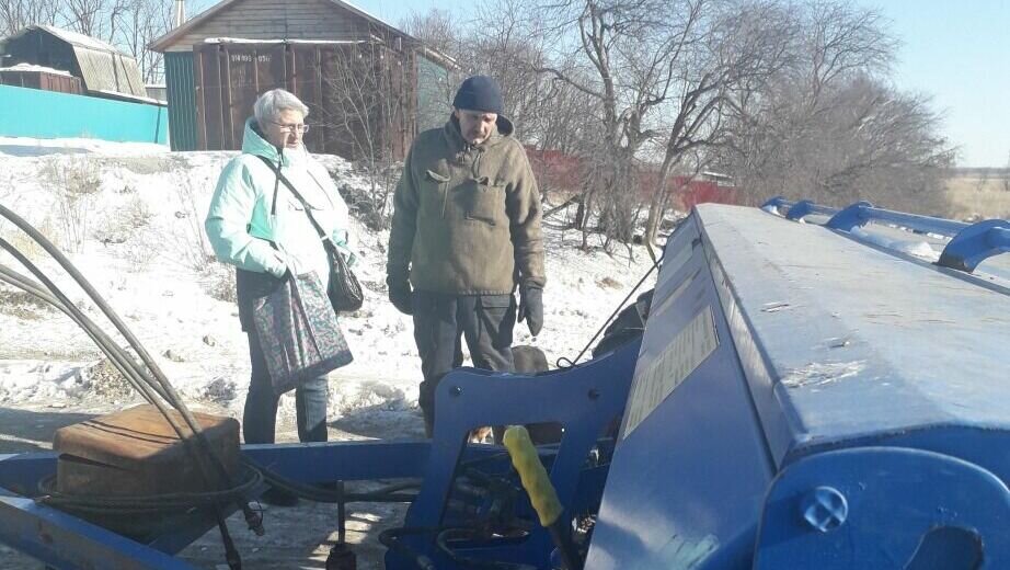
M609 238L631 240L636 192L635 158L653 133L646 115L659 106L674 79L669 58L677 36L693 33L703 0L566 0L527 10L542 22L550 52L535 71L578 90L596 103L598 128L582 156L586 172L576 224L587 244L588 216L599 201ZM685 10L686 9L686 10ZM574 30L574 33L572 32ZM622 195L623 194L623 195Z

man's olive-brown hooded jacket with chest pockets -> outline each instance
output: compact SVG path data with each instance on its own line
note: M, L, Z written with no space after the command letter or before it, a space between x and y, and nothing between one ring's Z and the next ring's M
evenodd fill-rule
M414 140L394 197L391 288L408 278L415 290L455 295L543 287L540 193L512 133L498 115L487 140L471 146L451 117Z

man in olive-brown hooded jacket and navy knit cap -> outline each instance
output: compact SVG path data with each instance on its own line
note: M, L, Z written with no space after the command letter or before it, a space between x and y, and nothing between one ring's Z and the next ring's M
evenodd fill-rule
M414 317L428 436L435 388L462 364L461 337L474 366L510 372L516 318L533 337L543 326L540 192L502 106L490 77L463 81L448 123L414 140L397 185L386 283Z

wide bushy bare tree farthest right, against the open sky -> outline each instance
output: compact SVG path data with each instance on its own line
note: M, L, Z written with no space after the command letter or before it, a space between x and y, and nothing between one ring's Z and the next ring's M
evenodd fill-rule
M720 164L751 202L872 200L936 213L953 151L927 98L887 88L895 43L871 10L808 3L788 66L732 99Z

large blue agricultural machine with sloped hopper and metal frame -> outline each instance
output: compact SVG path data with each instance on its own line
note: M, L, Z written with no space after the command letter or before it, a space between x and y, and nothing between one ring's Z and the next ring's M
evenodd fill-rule
M1005 220L700 205L592 360L451 373L431 441L244 446L261 477L208 502L264 478L410 502L393 570L1010 568L1008 250ZM544 423L560 441L467 437ZM215 525L117 534L47 500L57 463L0 456L0 540L53 567L190 568L172 555ZM417 485L342 494L366 479Z

